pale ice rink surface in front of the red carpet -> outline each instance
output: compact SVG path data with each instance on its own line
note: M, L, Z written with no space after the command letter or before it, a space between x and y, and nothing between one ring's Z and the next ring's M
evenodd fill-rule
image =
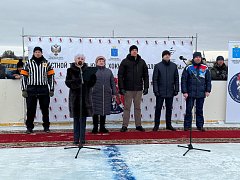
M176 144L0 149L1 180L239 180L240 144Z

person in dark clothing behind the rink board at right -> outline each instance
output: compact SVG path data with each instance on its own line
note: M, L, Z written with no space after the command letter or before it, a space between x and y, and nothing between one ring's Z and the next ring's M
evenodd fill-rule
M216 63L211 69L212 80L227 80L228 68L224 63L223 56L218 56L216 59Z

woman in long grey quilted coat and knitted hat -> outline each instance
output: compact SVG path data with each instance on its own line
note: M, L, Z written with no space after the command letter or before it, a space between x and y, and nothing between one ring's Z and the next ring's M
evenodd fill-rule
M92 87L93 101L93 130L92 133L98 133L98 121L100 119L100 133L108 133L105 128L106 115L111 112L112 98L116 95L116 86L112 71L106 68L106 59L103 56L96 58L97 81Z

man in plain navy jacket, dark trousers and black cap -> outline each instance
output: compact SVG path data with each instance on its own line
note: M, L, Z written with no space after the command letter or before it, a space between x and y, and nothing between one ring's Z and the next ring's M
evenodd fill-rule
M170 61L171 53L167 50L162 52L162 62L154 67L153 92L156 96L155 125L153 131L158 131L163 101L166 105L166 129L176 131L172 127L172 104L173 97L179 92L179 75L177 65Z

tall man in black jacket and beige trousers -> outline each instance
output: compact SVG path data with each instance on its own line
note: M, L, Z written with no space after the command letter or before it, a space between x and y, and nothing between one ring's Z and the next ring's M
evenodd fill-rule
M149 88L148 67L138 55L138 47L132 45L127 57L122 60L118 70L118 86L121 95L124 95L123 125L121 132L126 132L132 101L134 103L134 118L136 130L145 131L141 125L141 99ZM144 88L143 88L144 87Z

